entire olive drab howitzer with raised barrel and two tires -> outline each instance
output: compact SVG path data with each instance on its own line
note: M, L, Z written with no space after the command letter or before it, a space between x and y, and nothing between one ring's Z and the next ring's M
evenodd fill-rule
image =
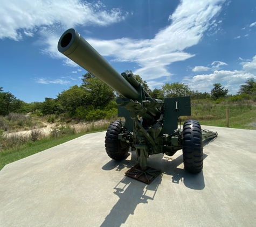
M178 129L179 116L190 116L190 97L151 98L132 74L121 75L74 29L63 33L58 42L59 52L98 77L117 91L118 116L106 133L108 156L115 160L126 158L129 148L136 151L139 163L126 175L150 183L160 173L147 167L147 158L164 153L172 156L183 150L183 163L188 172L203 169L203 139L216 137L217 132L202 130L196 120L186 120Z

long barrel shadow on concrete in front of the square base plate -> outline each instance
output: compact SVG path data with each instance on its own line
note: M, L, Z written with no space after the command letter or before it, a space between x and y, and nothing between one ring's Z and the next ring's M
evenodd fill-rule
M119 200L110 210L101 227L115 227L124 224L129 215L134 215L134 211L140 203L148 203L154 200L158 186L162 181L162 174L159 175L150 185L136 181L125 176L115 187L114 194Z

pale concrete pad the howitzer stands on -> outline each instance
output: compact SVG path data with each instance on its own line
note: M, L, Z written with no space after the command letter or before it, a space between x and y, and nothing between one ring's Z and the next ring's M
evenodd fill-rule
M153 183L124 176L136 164L110 159L105 132L87 134L0 171L0 226L256 226L256 131L218 131L204 141L200 174L182 151L153 155Z

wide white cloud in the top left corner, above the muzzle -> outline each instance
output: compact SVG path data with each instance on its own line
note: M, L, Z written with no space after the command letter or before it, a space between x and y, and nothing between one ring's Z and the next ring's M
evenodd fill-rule
M1 2L0 39L20 40L44 29L54 30L76 25L106 26L123 20L119 9L106 11L101 2L81 0L8 0Z

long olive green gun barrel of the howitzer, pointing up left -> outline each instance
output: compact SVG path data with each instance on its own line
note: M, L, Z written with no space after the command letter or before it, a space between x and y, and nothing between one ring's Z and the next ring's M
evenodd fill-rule
M74 29L60 37L58 51L126 98L137 100L139 93Z

